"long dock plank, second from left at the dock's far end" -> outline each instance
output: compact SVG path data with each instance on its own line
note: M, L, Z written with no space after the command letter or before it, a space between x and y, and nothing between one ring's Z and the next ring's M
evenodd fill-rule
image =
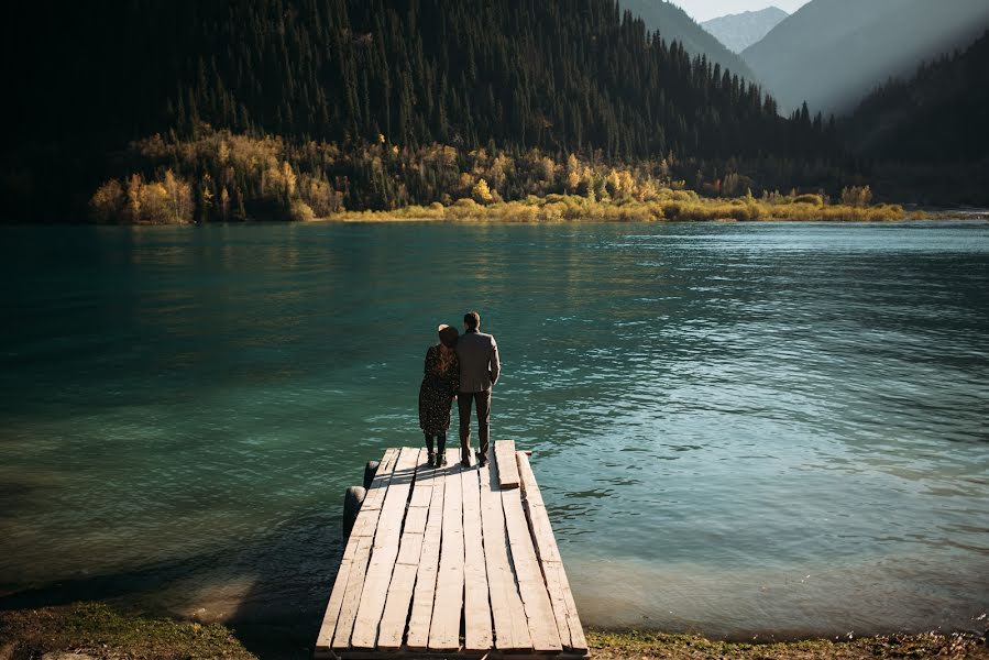
M395 472L392 474L382 504L377 530L374 532L371 563L364 578L361 604L350 639L351 648L373 649L377 641L378 624L385 609L388 584L392 582L392 572L398 557L405 507L416 477L416 468L420 464L421 452L425 450L403 447L398 453L398 462L395 464Z

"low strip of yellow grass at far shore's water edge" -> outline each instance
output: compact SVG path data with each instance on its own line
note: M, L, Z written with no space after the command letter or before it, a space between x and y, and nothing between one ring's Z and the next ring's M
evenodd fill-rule
M473 198L443 206L407 206L392 211L340 211L330 220L480 220L502 222L651 222L651 221L832 221L903 220L898 205L828 204L820 195L769 195L727 198L700 197L691 190L661 190L650 199L594 200L579 195L530 196L524 201L479 204Z

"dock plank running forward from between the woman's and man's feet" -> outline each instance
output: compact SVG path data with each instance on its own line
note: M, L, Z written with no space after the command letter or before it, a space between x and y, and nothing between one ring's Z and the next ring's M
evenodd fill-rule
M440 568L437 573L432 619L429 624L429 649L457 651L460 649L460 615L463 609L463 496L461 473L465 470L455 460L460 450L448 450L443 480L443 537L440 547ZM451 458L453 460L451 460Z

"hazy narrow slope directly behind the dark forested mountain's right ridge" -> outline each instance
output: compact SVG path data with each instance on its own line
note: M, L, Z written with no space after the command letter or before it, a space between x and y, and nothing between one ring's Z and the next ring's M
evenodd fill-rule
M725 44L705 31L685 11L668 0L618 0L623 10L628 10L646 23L646 30L659 32L667 41L680 42L691 56L703 55L711 64L718 64L749 81L757 81L752 69Z

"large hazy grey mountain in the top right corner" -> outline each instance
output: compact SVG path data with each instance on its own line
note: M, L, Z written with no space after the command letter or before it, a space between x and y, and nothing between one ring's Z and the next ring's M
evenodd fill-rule
M811 0L741 56L784 110L843 113L987 26L986 0Z

